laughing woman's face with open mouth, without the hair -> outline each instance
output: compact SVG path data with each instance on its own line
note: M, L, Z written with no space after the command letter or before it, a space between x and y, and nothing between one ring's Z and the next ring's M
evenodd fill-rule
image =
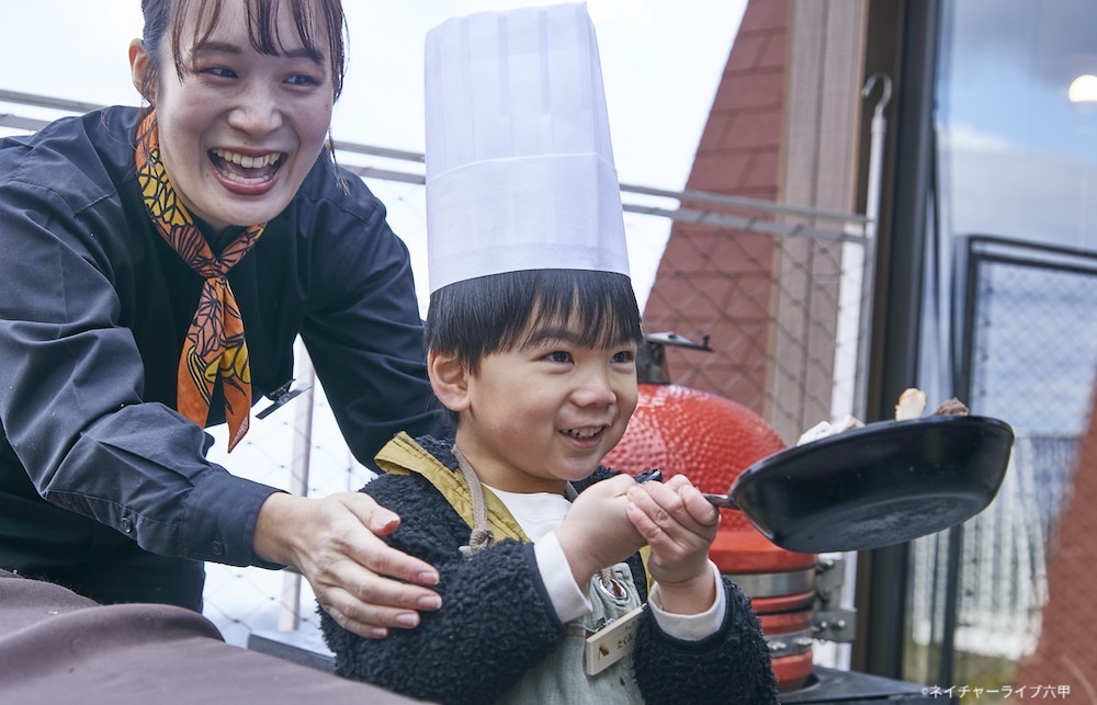
M188 9L181 72L168 42L157 57L165 68L148 98L160 158L191 214L217 230L281 213L316 162L331 122L330 59L309 52L289 4L278 7L276 54L252 45L246 0L227 0L208 34L194 5ZM316 39L328 46L326 35ZM139 43L131 59L140 86L149 57Z

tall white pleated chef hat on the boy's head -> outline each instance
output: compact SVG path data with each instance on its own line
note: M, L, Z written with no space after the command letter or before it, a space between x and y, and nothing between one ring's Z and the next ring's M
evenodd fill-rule
M585 3L482 12L427 34L431 293L533 269L629 274Z

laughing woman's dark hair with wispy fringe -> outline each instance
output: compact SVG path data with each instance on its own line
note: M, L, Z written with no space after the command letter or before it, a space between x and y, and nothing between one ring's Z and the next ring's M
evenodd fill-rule
M142 95L151 101L156 95L157 81L162 67L161 53L166 38L170 38L172 59L176 72L183 76L191 69L183 61L181 46L184 20L191 5L195 5L194 16L197 27L191 49L195 49L210 38L217 22L224 0L142 0L140 9L145 15L145 31L142 42L149 56L149 68L140 88ZM327 56L331 65L331 83L335 99L342 93L343 76L347 72L347 20L343 16L341 0L247 0L248 36L251 46L257 52L276 56L284 45L278 33L278 15L282 3L289 3L293 21L297 27L297 36L305 49L316 57L325 55L318 44L321 32L327 31ZM314 11L315 9L315 11ZM323 26L317 26L323 23Z

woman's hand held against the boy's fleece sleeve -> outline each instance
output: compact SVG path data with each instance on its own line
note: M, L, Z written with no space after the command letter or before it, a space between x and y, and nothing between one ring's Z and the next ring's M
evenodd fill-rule
M417 626L418 610L442 604L436 592L420 587L437 584L438 571L378 538L397 526L399 516L362 492L323 499L279 492L259 510L253 545L263 559L305 576L343 628L383 638L391 627Z

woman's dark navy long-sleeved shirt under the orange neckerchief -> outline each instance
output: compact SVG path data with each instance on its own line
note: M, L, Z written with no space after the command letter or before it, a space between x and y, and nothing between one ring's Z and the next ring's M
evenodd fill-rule
M202 280L145 212L136 115L106 109L0 140L0 568L94 561L113 550L103 525L165 556L265 565L252 531L275 490L208 462L210 436L174 411ZM346 179L349 194L321 156L229 281L255 398L290 380L299 333L370 465L438 416L407 248ZM223 421L218 396L208 423Z

